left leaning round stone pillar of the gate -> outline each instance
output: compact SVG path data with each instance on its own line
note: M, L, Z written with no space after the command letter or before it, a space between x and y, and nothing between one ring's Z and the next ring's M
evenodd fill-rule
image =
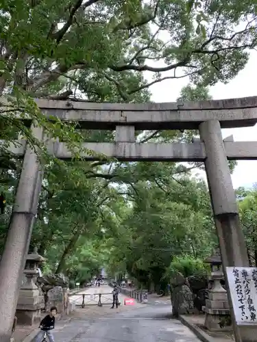
M42 140L42 128L32 126L32 133ZM21 276L38 206L41 176L38 157L27 145L0 263L0 342L10 342L12 334Z

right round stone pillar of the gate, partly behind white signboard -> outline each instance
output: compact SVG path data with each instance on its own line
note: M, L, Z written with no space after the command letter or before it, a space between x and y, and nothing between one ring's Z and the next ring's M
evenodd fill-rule
M218 120L205 121L199 125L199 131L201 140L206 148L206 174L215 226L219 237L225 282L228 289L234 337L236 342L245 342L249 340L244 338L243 331L239 330L234 318L225 267L249 267L249 260L245 237L240 225L228 159L221 135L221 125ZM257 339L253 341L257 341Z

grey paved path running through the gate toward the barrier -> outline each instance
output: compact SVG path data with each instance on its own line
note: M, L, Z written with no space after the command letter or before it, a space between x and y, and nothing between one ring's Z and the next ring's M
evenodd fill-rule
M98 290L98 289L97 289ZM92 289L91 291L97 291ZM86 289L88 291L88 289ZM101 289L100 289L101 291ZM143 305L123 310L98 308L97 317L87 314L58 321L53 334L56 342L199 342L195 334L177 319L171 319L167 305ZM93 308L93 306L91 306ZM107 311L108 308L108 311ZM79 309L84 312L83 309ZM108 312L108 314L107 314Z

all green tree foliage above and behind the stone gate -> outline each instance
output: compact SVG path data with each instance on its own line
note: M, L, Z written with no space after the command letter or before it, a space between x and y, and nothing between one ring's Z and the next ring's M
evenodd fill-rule
M207 87L235 77L256 46L256 10L254 1L236 6L219 0L3 1L0 95L8 98L9 107L2 106L0 113L5 139L0 184L7 197L0 216L0 253L21 171L8 144L20 135L42 150L17 120L17 111L73 151L85 140L110 142L112 132L81 132L72 124L47 121L33 98L147 102L149 86L182 77L190 85L180 101L210 98ZM183 142L192 135L197 132L144 131L137 140ZM47 257L45 272L63 272L84 282L104 265L110 276L128 273L157 289L165 287L172 267L189 265L193 272L217 245L208 189L191 174L201 164L44 161L30 248L37 246ZM234 165L230 163L231 170ZM255 190L241 189L253 261L256 198Z

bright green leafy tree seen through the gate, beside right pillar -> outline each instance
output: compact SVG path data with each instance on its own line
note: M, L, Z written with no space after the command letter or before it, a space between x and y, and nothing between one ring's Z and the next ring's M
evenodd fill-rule
M144 286L152 283L158 289L165 287L162 278L175 255L206 257L217 237L206 185L175 164L158 163L156 174L150 171L152 163L146 164L130 170L136 178L139 169L140 180L128 191L130 209L115 237L108 271L127 271Z

